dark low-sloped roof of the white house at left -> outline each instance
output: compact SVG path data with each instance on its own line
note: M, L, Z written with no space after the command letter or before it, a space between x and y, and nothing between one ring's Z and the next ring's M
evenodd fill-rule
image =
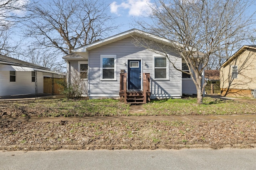
M28 63L26 61L14 59L12 57L7 57L7 56L1 55L1 54L0 54L0 64L9 64L9 65L15 65L15 66L25 66L25 67L32 67L32 68L40 68L43 70L50 70L49 68L46 68L43 66Z

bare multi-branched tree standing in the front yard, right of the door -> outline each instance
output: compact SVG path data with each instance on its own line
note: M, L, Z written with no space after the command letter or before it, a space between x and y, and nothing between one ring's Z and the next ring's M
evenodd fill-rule
M172 40L177 53L188 66L184 72L169 60L174 68L190 74L196 89L197 103L202 104L206 83L203 70L211 56L228 52L244 39L254 23L246 9L253 1L240 0L159 0L151 6L151 23L138 22L143 30ZM177 45L179 44L179 45ZM148 48L152 50L151 48ZM154 49L153 49L154 50ZM159 49L158 49L159 50ZM162 48L162 55L168 51ZM201 66L202 65L202 66ZM192 74L193 73L193 74Z

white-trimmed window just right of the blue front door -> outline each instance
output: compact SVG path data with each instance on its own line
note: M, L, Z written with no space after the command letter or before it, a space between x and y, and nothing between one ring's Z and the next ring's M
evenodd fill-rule
M154 79L167 79L167 58L154 57Z

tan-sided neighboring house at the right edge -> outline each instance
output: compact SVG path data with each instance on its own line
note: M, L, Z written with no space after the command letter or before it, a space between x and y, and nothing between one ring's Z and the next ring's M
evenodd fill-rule
M256 45L244 45L220 68L221 96L254 97Z

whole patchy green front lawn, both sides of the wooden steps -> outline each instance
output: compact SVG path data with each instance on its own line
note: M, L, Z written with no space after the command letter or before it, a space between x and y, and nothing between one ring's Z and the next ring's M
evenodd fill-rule
M139 115L232 115L255 114L256 105L234 100L203 98L202 105L196 98L152 100L144 104L145 112L129 113L130 105L114 99L67 100L38 99L0 102L1 113L12 117L86 117L86 116L139 116ZM182 121L173 123L182 125ZM81 125L76 125L81 126ZM90 125L91 126L91 125Z

